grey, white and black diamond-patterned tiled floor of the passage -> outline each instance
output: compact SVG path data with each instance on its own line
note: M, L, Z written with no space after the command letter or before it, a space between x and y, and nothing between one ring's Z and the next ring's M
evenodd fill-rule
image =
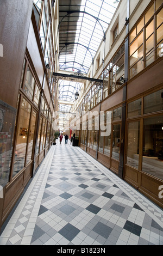
M163 212L62 141L4 223L0 245L163 245Z

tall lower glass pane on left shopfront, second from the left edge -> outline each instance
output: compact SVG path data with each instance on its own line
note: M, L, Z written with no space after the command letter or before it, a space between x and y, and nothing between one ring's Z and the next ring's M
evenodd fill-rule
M13 176L15 176L24 167L27 137L29 136L30 110L30 104L28 103L28 101L23 99L20 111L20 121L18 124Z

